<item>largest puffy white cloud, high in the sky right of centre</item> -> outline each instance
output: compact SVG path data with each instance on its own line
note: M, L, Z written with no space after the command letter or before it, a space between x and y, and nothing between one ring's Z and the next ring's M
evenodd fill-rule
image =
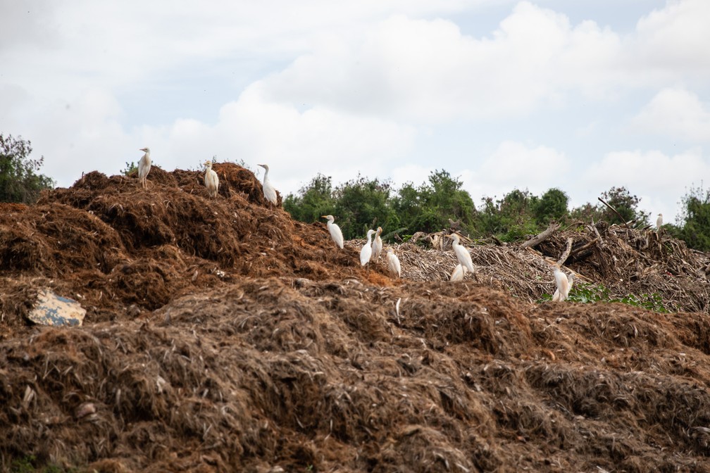
M523 1L492 38L437 18L391 16L361 37L314 48L266 81L275 100L439 123L528 113L569 89L601 94L616 66L618 35L593 21Z

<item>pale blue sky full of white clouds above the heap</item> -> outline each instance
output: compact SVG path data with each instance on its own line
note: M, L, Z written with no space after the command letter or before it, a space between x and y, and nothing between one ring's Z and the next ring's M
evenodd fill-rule
M5 1L0 133L60 187L149 146L167 170L266 162L283 194L446 169L477 205L624 186L674 221L710 175L708 18L707 0Z

